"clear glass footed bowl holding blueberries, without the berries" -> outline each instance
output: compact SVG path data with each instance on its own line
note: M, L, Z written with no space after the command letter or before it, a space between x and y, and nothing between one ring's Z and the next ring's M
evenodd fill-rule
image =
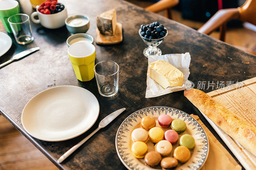
M166 29L166 28L164 27L164 29ZM139 35L140 35L140 31L141 31L141 28L139 30ZM145 37L140 35L140 38L148 45L148 47L143 50L144 56L148 58L149 55L161 55L162 51L157 46L159 44L161 44L161 42L163 42L163 40L167 36L167 34L168 34L168 30L167 30L165 36L160 39L146 39Z

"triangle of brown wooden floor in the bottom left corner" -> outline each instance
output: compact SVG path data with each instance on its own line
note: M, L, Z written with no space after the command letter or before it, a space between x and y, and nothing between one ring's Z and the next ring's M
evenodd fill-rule
M0 170L58 169L12 124L0 116Z

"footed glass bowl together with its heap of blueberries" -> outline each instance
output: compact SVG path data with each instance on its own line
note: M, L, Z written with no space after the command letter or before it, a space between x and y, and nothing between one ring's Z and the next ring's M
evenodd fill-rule
M164 25L159 24L157 21L148 25L141 25L139 34L140 38L148 45L148 47L143 50L145 57L162 54L162 51L157 46L163 42L168 34Z

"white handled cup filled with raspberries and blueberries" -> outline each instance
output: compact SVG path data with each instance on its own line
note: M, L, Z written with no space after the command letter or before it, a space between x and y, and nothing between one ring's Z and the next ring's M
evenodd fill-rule
M38 16L38 19L35 18ZM36 12L31 14L31 20L40 23L45 28L56 29L65 25L65 19L68 17L67 9L64 4L57 0L46 0L37 6Z

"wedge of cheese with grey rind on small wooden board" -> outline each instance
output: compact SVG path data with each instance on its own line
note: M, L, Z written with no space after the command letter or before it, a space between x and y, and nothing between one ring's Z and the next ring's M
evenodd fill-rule
M97 27L103 35L114 35L116 23L116 9L103 12L97 16Z

